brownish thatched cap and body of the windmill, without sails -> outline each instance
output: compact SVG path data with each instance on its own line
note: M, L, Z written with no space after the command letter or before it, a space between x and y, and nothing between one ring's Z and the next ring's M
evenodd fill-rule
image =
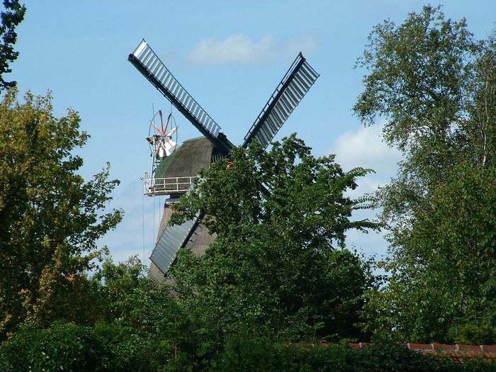
M200 169L206 169L212 161L213 145L205 137L193 138L184 141L183 145L174 151L170 157L166 157L155 170L154 178L180 177L186 178L198 175ZM178 201L183 193L171 195L164 204L164 212L160 221L157 242L169 224L173 213L171 204ZM208 233L208 229L199 225L193 235L186 242L186 247L193 250L193 253L200 255L205 252L208 245L213 242L215 236ZM150 264L150 276L159 282L163 282L164 272L153 262Z

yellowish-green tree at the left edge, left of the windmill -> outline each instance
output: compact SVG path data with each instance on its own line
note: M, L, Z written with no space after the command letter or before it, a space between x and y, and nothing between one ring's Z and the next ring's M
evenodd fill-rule
M23 320L81 320L97 239L121 219L104 212L118 184L108 166L91 181L78 174L72 152L89 137L79 115L55 118L50 94L16 97L0 104L0 337Z

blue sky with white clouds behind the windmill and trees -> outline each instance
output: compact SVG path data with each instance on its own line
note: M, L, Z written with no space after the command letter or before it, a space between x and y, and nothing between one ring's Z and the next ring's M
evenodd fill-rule
M181 84L236 144L301 50L320 73L276 139L298 133L315 155L337 154L344 169L371 167L359 192L373 191L395 174L398 153L380 139L380 126L362 128L351 108L361 92L363 71L354 69L373 26L401 23L424 1L26 1L12 64L21 93L54 96L55 114L79 111L91 135L79 151L90 177L105 162L122 182L113 205L125 219L102 244L113 257L153 248L163 198L142 196L140 176L150 171L145 137L155 109L169 102L128 62L145 38ZM432 5L438 3L432 2ZM496 2L445 1L448 18L467 18L477 38L494 28ZM179 141L198 131L173 109ZM357 216L358 217L358 216ZM380 234L351 232L349 244L381 255Z

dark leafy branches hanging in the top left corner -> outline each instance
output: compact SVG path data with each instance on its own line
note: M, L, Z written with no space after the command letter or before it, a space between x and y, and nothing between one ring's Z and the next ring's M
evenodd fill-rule
M0 12L0 91L16 84L16 81L5 81L4 74L12 71L9 64L19 55L13 50L13 44L17 40L16 27L23 21L25 13L26 7L18 0L4 0L4 11Z

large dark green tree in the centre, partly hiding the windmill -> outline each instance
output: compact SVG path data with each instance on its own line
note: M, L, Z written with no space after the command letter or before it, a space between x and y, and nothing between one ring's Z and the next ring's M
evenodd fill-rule
M217 235L201 257L181 251L171 273L196 332L191 352L218 350L243 329L284 340L360 337L354 323L371 273L342 248L347 230L377 226L352 221L367 201L344 193L368 171L346 173L294 136L270 152L253 144L232 157L203 171L171 219L202 210Z

